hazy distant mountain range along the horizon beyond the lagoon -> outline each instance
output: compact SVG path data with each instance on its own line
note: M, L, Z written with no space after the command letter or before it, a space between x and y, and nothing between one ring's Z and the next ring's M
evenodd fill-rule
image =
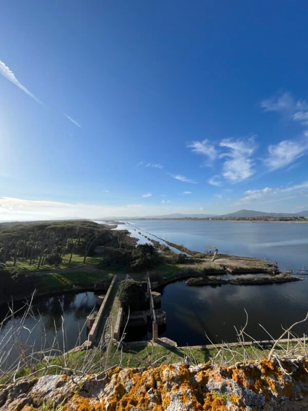
M266 213L264 211L256 210L239 210L229 214L165 214L165 215L148 215L143 217L104 217L97 218L97 220L144 220L144 219L175 219L175 218L249 218L249 217L308 217L308 210L301 211L299 213Z

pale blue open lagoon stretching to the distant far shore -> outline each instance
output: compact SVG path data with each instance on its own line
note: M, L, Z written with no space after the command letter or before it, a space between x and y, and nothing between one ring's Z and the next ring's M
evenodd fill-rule
M214 244L219 252L277 260L280 270L308 269L308 224L188 220L127 221L125 227L204 251ZM140 230L141 229L141 230Z

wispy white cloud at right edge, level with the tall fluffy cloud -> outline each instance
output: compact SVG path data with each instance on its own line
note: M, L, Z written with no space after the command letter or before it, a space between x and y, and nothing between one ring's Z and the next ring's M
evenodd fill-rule
M268 157L264 160L270 170L281 169L291 164L305 154L308 150L308 136L305 140L284 140L278 144L268 146Z

